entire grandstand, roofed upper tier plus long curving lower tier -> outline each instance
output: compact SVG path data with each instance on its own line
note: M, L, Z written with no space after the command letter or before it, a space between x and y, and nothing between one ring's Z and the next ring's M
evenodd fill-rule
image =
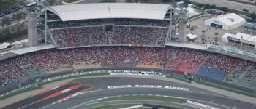
M144 68L203 76L255 92L255 62L167 46L171 11L172 7L165 4L46 7L40 16L47 19L45 30L50 35L45 43L54 46L37 47L1 60L0 89L72 70Z

